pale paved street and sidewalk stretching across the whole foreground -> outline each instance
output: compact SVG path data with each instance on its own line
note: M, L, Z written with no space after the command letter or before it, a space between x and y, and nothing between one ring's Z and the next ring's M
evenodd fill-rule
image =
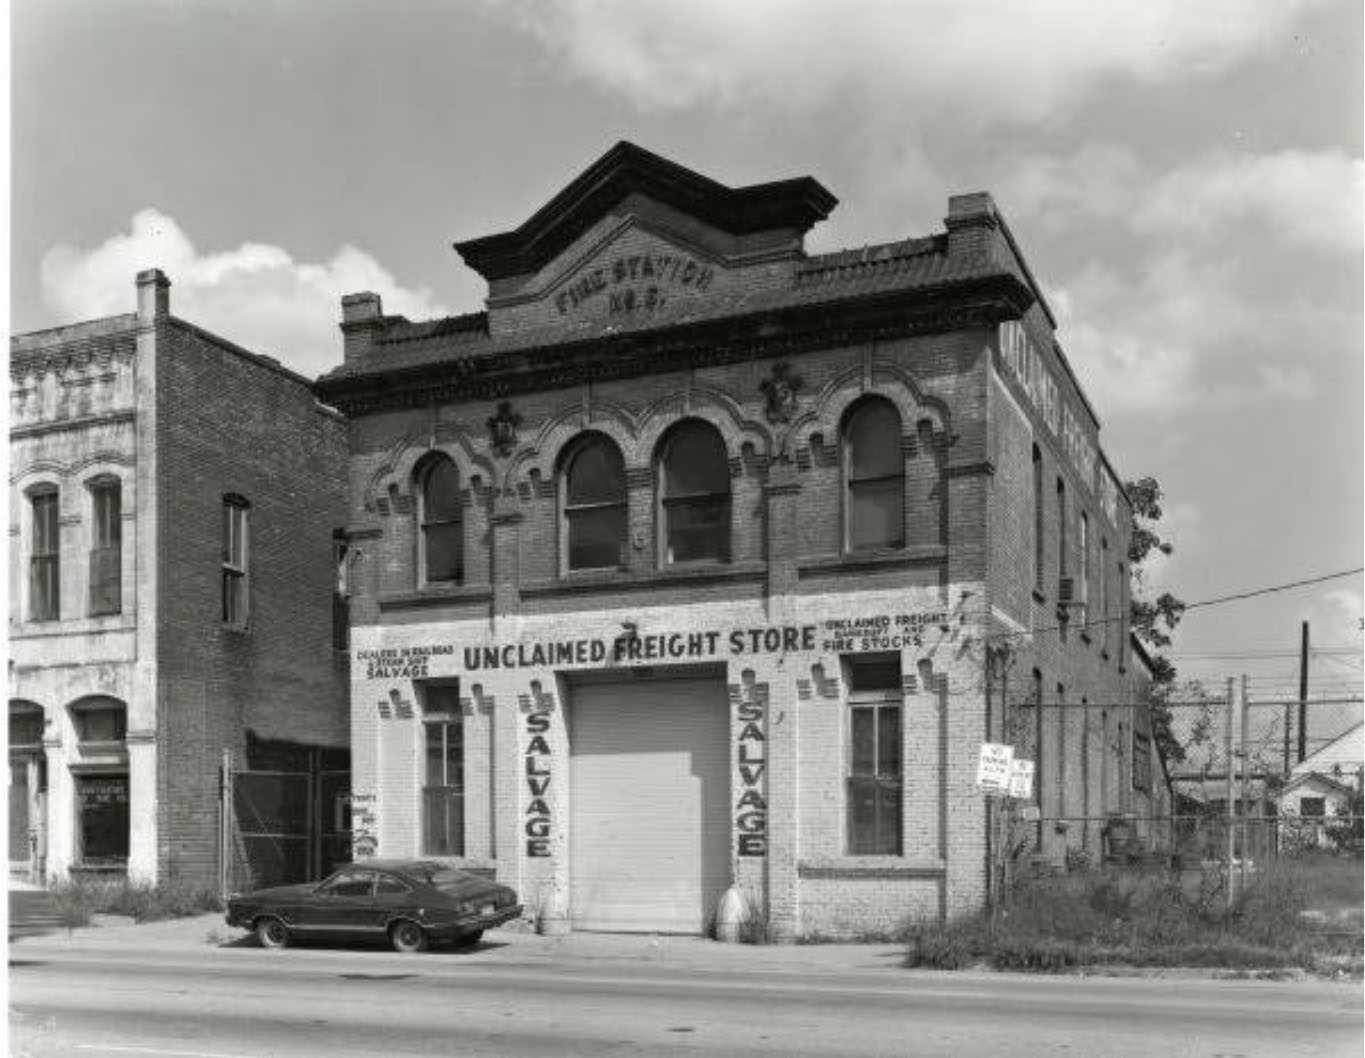
M263 952L78 931L10 953L26 1058L1360 1055L1358 983L906 971L893 947L491 934ZM115 931L117 932L117 931ZM82 939L82 935L87 935Z

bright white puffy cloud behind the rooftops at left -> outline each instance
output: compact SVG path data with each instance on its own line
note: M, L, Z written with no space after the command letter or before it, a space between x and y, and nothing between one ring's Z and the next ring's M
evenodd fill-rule
M384 311L412 318L446 315L426 288L407 289L373 257L343 246L322 263L295 261L266 243L202 254L172 217L156 209L128 229L85 250L55 246L42 257L42 296L59 319L128 313L134 276L160 268L171 278L171 311L276 356L313 377L341 356L341 295L374 291Z

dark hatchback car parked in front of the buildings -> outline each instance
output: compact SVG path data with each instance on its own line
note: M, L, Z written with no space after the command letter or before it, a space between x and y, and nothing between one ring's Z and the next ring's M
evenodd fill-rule
M228 926L262 947L295 939L388 938L394 950L474 945L521 915L516 891L434 860L364 860L322 882L274 886L228 900Z

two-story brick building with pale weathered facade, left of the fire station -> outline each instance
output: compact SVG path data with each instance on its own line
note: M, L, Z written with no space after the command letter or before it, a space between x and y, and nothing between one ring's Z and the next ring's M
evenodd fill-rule
M225 751L347 766L344 422L169 285L11 340L11 872L214 879Z

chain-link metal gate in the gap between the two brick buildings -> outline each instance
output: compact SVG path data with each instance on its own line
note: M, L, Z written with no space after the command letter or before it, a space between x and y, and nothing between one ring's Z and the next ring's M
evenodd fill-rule
M224 891L310 882L351 859L351 770L336 756L313 747L278 767L240 770L224 758Z

